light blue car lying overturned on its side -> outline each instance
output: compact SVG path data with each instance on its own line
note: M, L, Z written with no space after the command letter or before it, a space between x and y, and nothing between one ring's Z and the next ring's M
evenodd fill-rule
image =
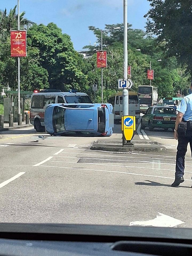
M56 136L69 132L111 136L114 127L112 111L110 103L50 104L45 109L45 130Z

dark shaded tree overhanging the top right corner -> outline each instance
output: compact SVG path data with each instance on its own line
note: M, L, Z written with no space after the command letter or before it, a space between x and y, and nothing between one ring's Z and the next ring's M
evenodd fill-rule
M147 32L158 36L167 56L175 56L187 65L192 77L192 12L189 0L148 0L151 9L147 17Z

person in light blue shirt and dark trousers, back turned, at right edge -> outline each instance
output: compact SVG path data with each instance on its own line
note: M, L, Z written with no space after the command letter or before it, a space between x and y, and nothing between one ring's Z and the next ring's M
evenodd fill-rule
M192 89L192 83L190 88ZM177 107L177 118L175 122L174 138L178 139L177 157L175 167L175 181L171 187L177 187L184 181L184 169L185 169L185 154L187 152L187 145L190 143L192 154L192 93L185 96L179 106ZM187 122L186 134L178 133L179 123ZM191 123L190 123L191 122Z

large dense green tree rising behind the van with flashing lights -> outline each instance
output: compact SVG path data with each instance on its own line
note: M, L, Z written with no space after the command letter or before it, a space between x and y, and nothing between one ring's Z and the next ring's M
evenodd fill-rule
M28 30L28 45L39 50L41 66L48 71L53 89L87 90L83 57L74 50L69 35L62 34L54 23L33 25Z

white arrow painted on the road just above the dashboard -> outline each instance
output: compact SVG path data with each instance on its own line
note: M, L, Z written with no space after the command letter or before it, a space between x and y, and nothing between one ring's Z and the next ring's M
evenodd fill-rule
M153 226L153 227L175 227L185 222L175 219L169 215L158 213L155 219L148 221L132 221L129 226Z

